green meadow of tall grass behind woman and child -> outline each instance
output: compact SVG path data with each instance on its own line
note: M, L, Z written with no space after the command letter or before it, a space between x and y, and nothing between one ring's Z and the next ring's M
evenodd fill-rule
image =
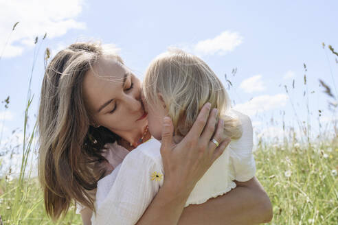
M46 54L49 56L49 51ZM306 71L305 64L304 69ZM305 77L304 80L306 84ZM305 93L308 96L307 88ZM10 176L11 171L5 171L7 175L0 177L0 215L3 224L54 224L45 214L37 178L30 176L30 155L36 150L36 129L33 127L27 131L31 102L28 91L19 176ZM297 123L307 132L311 127L308 121L304 126L302 121ZM338 224L337 121L333 130L326 130L321 135L320 141L310 137L305 141L297 141L295 136L284 139L282 143L277 140L258 141L254 152L258 169L256 176L273 204L273 220L270 224ZM11 151L9 149L8 154ZM0 167L1 163L0 159ZM82 223L72 206L65 218L56 224Z

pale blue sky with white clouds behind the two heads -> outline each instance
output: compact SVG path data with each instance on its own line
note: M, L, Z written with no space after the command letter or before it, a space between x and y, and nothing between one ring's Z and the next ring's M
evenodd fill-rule
M256 137L280 137L283 120L298 127L297 121L309 119L315 135L324 129L319 119L330 130L337 112L328 110L328 101L337 104L337 99L323 93L319 79L338 96L338 57L327 47L338 50L337 9L333 0L0 0L0 100L10 96L8 108L0 101L0 151L13 141L22 142L31 75L30 128L34 126L45 49L54 56L82 40L100 40L118 49L140 79L150 61L168 47L196 54L227 87L226 74L233 105L251 117Z

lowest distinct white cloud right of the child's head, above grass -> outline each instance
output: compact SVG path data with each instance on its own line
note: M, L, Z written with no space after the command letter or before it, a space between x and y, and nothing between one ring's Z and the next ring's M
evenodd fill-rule
M246 115L254 116L258 112L273 110L286 105L288 96L284 94L278 95L260 95L252 98L249 102L244 104L237 104L234 109L245 112Z

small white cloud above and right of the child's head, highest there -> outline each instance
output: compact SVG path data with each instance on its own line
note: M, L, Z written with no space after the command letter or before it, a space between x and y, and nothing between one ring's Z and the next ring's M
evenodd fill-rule
M224 55L233 51L242 42L243 37L237 32L225 31L214 38L201 40L191 48L194 53L199 55Z

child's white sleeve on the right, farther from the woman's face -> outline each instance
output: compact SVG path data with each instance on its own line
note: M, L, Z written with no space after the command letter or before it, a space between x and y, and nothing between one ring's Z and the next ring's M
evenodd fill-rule
M234 180L245 182L255 176L256 163L252 154L253 131L251 119L238 111L232 110L242 123L243 134L240 139L232 140L229 144L230 164L234 173Z

